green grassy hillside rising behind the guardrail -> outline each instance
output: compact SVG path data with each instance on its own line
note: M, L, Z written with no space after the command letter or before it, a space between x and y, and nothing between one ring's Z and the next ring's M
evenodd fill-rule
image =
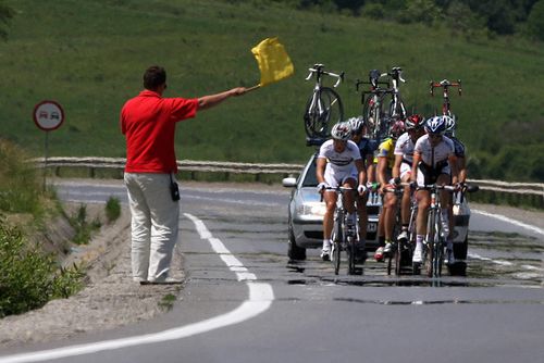
M302 162L302 112L316 62L345 71L338 91L360 113L355 80L370 68L403 66L409 109L431 114L431 79L462 79L453 95L472 177L543 180L544 49L514 38L466 39L450 30L211 0L10 0L16 10L0 43L0 137L44 153L34 105L59 101L64 125L49 133L50 155L124 157L119 111L141 89L150 64L169 73L166 96L198 97L259 82L250 49L279 36L295 75L200 113L177 129L177 158Z

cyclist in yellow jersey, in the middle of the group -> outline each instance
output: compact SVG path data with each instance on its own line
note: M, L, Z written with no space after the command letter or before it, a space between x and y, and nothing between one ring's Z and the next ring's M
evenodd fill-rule
M383 261L385 254L391 253L393 248L393 227L395 224L395 200L391 192L385 192L385 188L391 187L388 182L392 176L393 164L395 163L395 142L405 132L405 123L397 120L390 128L390 137L386 138L378 148L374 163L376 163L376 179L380 183L380 195L383 196L382 212L378 220L378 241L379 247L375 250L374 259Z

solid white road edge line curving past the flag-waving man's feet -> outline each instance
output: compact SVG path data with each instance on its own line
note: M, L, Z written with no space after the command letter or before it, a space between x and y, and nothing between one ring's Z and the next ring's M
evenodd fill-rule
M185 213L184 215L193 221L200 238L207 239L210 242L215 253L219 253L228 268L236 273L238 280L247 281L246 285L249 288L249 297L238 308L228 313L211 317L202 322L168 329L160 333L97 341L86 345L42 350L30 353L0 356L0 363L42 362L47 360L67 356L92 354L101 351L115 350L133 346L151 345L156 342L176 340L219 329L225 326L238 324L267 311L274 300L274 291L272 290L272 286L269 284L256 283L255 280L257 279L257 277L254 274L248 273L247 268L244 267L242 262L226 249L223 242L212 236L202 221L187 213Z

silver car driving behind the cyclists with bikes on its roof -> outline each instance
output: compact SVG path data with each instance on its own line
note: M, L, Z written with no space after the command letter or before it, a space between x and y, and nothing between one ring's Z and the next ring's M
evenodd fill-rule
M323 245L323 215L325 203L321 201L316 178L316 157L312 154L298 178L283 179L283 186L293 188L288 205L288 250L292 260L305 260L307 248L321 248ZM378 247L378 214L381 198L369 196L367 203L368 227L367 249Z

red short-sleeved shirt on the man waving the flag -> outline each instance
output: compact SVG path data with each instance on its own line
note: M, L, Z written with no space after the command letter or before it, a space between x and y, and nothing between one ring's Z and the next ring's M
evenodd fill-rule
M195 117L198 99L162 98L144 90L121 110L126 137L127 173L177 172L174 151L175 123Z

